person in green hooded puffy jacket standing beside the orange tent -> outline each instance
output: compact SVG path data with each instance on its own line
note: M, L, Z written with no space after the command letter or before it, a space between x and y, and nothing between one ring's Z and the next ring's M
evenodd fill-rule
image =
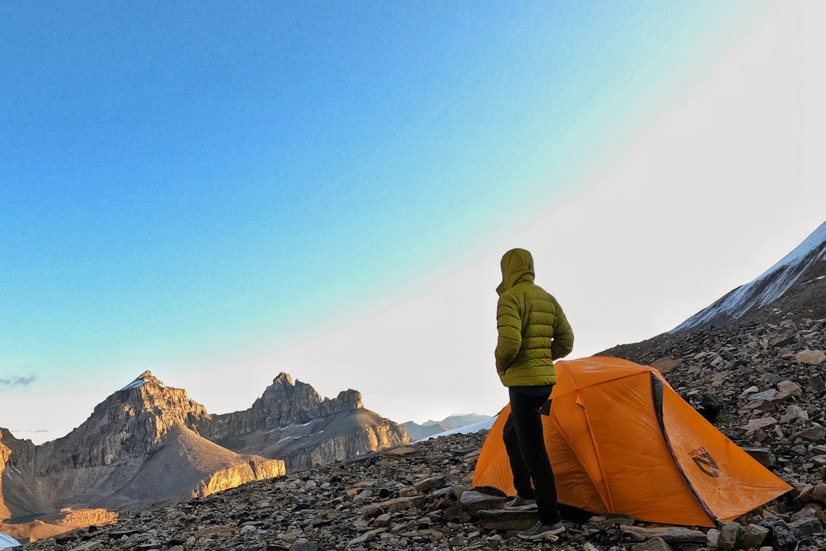
M534 283L534 259L527 250L506 252L501 270L502 283L496 287L496 372L510 397L503 439L516 488L506 509L536 509L539 522L518 535L543 539L561 534L565 526L540 409L557 382L553 361L571 352L573 331L557 300Z

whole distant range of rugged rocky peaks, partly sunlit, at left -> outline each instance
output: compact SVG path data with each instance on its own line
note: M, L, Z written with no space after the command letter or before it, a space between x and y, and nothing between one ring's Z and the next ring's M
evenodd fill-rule
M101 508L185 501L409 441L354 390L322 399L281 373L248 410L212 416L146 371L61 439L35 445L0 429L0 527L48 537L74 528L72 515L44 528L66 508L95 508L74 519L99 524L116 518Z

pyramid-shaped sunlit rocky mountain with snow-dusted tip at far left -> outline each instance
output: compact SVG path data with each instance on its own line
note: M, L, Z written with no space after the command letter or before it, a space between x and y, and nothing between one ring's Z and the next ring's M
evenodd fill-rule
M4 431L0 515L112 510L191 499L285 473L283 461L236 454L201 435L207 410L145 372L69 435L40 446Z

